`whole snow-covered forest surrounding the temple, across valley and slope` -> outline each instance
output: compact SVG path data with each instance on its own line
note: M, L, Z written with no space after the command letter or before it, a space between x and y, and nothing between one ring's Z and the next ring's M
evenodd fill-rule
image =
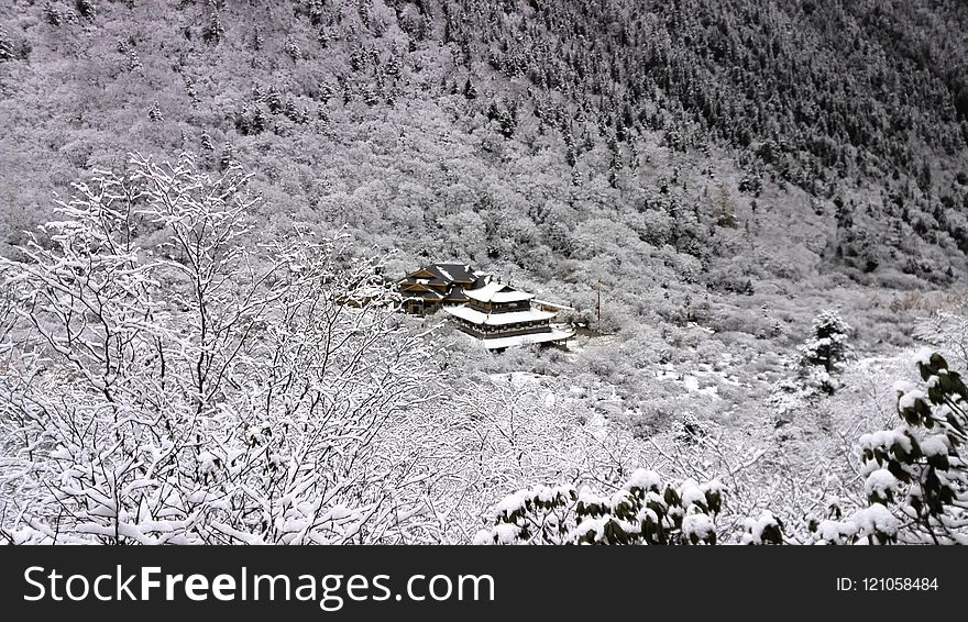
M968 8L0 7L0 541L968 543ZM395 284L566 309L491 352Z

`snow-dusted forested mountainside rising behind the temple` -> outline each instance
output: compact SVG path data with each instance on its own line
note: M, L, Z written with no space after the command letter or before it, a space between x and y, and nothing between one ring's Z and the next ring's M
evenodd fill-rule
M966 13L18 0L0 13L2 235L128 152L189 149L255 171L267 219L544 279L597 276L607 221L650 259L671 245L708 268L736 227L768 253L826 235L810 251L834 263L946 281L968 243Z

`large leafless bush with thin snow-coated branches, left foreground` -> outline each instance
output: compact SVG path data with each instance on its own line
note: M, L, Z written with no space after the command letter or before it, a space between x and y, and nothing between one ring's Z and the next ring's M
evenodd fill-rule
M261 241L246 177L188 156L76 190L26 262L0 258L0 535L396 540L420 476L386 432L424 400L425 346L380 262Z

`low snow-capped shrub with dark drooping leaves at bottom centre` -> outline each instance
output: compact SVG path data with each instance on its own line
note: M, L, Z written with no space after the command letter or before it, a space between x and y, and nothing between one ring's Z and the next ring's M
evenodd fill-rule
M507 497L494 509L494 526L475 544L716 544L723 506L718 481L664 484L638 469L610 495L573 486L538 486ZM760 530L758 543L782 542L782 526Z

